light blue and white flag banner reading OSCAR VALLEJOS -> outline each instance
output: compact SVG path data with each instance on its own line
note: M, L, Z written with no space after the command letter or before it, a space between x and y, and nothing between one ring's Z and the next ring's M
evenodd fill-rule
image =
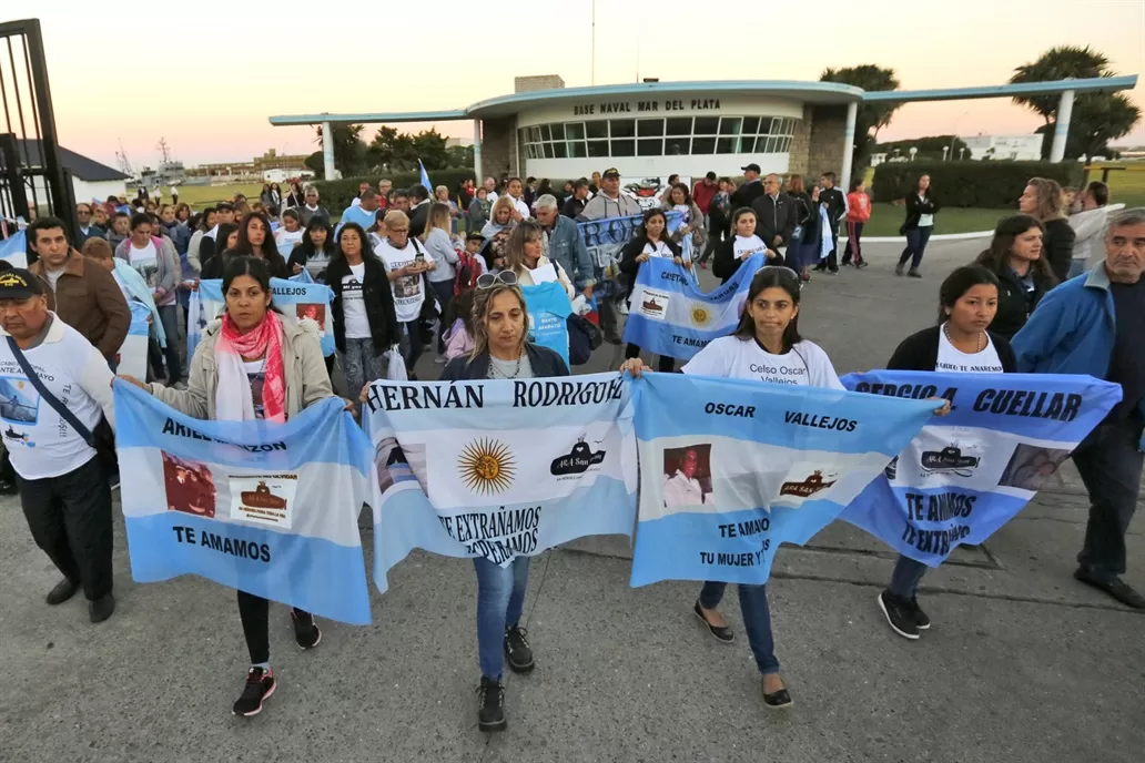
M764 583L882 474L934 411L815 387L646 372L634 383L632 585Z

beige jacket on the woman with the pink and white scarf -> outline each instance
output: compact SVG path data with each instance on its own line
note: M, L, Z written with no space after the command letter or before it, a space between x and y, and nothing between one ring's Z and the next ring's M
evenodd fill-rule
M305 318L295 321L279 316L283 323L283 369L286 374L286 418L315 403L334 397L326 374L326 363L318 343L318 324ZM219 387L219 369L215 366L214 349L219 342L222 321L213 320L204 331L203 339L195 348L187 389L177 390L151 382L147 387L156 398L195 419L215 419L215 391Z

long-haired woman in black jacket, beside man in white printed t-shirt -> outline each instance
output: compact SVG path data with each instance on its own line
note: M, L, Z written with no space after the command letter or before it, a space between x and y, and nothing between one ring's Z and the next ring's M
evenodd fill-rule
M326 286L334 292L334 347L346 375L349 397L386 375L386 350L397 344L401 331L394 312L394 293L385 263L357 223L346 223L338 235L338 251L326 269Z

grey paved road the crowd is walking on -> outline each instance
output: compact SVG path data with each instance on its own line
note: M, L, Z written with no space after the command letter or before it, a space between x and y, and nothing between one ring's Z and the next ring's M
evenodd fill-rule
M980 244L979 244L980 245ZM935 316L941 276L978 245L933 243L926 278L870 268L816 278L804 333L840 373L879 366ZM614 367L605 348L592 369ZM432 374L427 361L424 374ZM924 581L934 621L893 636L875 606L886 548L836 524L784 547L769 586L796 699L764 708L750 651L704 635L696 586L627 586L619 538L535 561L527 625L538 669L507 679L507 732L475 728L472 566L416 554L374 594L374 625L326 623L300 653L271 609L281 685L256 718L229 714L246 653L234 593L131 581L117 534L119 609L42 604L56 573L15 499L0 501L0 761L933 761L1134 762L1145 750L1145 618L1071 578L1087 507L1066 470L985 548ZM1145 525L1130 574L1145 588ZM370 554L369 533L364 537ZM725 612L742 634L734 595Z

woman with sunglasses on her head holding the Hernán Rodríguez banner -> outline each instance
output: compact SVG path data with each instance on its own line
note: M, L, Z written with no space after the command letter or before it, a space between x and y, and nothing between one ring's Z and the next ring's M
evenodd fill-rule
M482 273L473 301L473 351L450 360L442 381L568 376L561 356L528 342L528 335L529 309L513 271ZM520 623L529 585L529 557L516 556L505 566L474 557L473 566L477 573L481 663L477 726L481 731L503 731L506 726L505 690L500 683L504 663L507 660L514 673L528 673L535 667L532 647Z

